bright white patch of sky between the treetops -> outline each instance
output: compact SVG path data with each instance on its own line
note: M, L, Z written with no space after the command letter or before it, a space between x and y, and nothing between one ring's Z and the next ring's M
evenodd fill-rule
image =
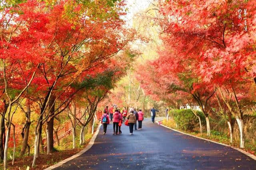
M131 26L134 14L148 8L150 2L153 1L154 0L126 0L128 12L127 15L124 17L124 20L127 21L127 24Z

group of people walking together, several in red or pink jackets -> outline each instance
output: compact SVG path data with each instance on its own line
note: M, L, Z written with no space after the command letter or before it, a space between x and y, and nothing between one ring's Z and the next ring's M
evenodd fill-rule
M110 108L106 106L103 112L104 113L101 117L101 123L103 125L104 135L106 134L107 126L108 124L110 124L110 121L113 121L113 130L114 130L113 135L118 135L122 133L121 126L122 126L122 123L124 123L125 121L128 122L130 135L133 134L133 128L137 130L137 121L138 121L138 130L142 129L142 121L144 120L144 113L142 112L141 109L139 109L139 111L137 112L135 108L129 108L129 111L128 111L128 109L124 107L121 113L120 109L118 109L117 106L113 104ZM126 120L126 118L128 120Z

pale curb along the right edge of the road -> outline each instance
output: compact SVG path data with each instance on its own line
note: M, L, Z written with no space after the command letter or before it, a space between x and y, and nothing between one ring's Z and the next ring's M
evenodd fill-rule
M159 121L163 121L163 120L158 120L158 121L156 121L156 122L158 123ZM209 139L204 139L204 138L202 138L202 137L197 137L197 136L194 136L194 135L190 135L190 134L188 134L188 133L184 133L184 132L178 131L178 130L176 130L176 129L172 129L172 128L167 127L167 126L162 125L162 124L158 124L158 125L161 125L161 126L163 126L163 127L166 127L166 128L168 128L168 129L171 129L171 130L176 131L176 132L178 132L178 133L182 133L182 134L184 134L184 135L192 136L192 137L195 137L195 138L198 138L198 139L202 139L202 140L205 140L205 141L209 141L209 142L212 142L212 143L216 143L216 144L219 144L219 145L223 145L223 146L225 146L225 147L230 147L230 148L235 149L235 150L237 150L237 151L239 151L239 152L245 154L246 156L249 156L250 158L256 160L256 156L254 156L253 154L250 154L249 152L246 152L246 151L244 151L244 150L242 150L242 149L239 149L239 148L236 148L236 147L232 147L232 146L226 145L226 144L224 144L224 143L219 143L219 142L211 141L211 140L209 140Z

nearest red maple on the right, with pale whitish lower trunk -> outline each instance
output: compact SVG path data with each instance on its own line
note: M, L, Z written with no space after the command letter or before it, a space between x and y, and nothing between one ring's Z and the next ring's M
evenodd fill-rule
M183 53L195 60L194 73L214 88L228 85L234 96L234 89L244 79L254 79L256 9L253 4L241 0L161 3L162 14L169 17L163 21L164 31L182 37L182 45L187 48ZM234 100L239 102L236 97ZM232 111L232 115L240 127L240 147L244 147L243 115L239 110Z

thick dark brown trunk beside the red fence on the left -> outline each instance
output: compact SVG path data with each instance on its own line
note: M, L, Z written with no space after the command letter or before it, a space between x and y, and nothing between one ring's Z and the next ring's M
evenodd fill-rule
M54 110L55 110L55 104L54 104L54 100L55 100L55 96L51 96L50 97L50 100L49 100L49 104L48 104L48 107L49 107L49 116L50 116L50 120L47 121L47 124L46 124L46 136L47 136L47 154L50 154L53 152L53 142L54 142L54 139L53 139L53 130L54 130Z

